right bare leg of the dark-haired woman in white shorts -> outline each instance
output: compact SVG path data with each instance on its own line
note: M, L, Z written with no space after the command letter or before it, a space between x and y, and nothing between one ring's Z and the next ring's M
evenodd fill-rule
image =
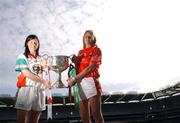
M30 117L28 123L38 123L41 116L40 111L30 111Z

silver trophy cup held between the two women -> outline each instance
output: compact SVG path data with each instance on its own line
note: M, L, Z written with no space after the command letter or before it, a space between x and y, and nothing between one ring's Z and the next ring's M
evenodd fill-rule
M51 56L50 67L53 71L59 74L58 80L54 84L56 88L65 88L65 85L61 81L61 73L69 67L68 58L69 57L65 55Z

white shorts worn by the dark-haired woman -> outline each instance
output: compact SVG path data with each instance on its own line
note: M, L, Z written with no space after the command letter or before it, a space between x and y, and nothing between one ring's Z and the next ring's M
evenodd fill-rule
M21 87L15 103L16 109L26 111L43 111L45 105L45 91L37 87Z

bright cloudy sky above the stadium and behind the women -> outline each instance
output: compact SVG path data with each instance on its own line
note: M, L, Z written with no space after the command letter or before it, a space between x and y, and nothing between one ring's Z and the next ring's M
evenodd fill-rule
M41 54L70 55L82 48L86 29L103 52L104 91L149 92L177 83L179 6L178 0L0 0L0 93L16 91L15 60L27 35L39 36Z

